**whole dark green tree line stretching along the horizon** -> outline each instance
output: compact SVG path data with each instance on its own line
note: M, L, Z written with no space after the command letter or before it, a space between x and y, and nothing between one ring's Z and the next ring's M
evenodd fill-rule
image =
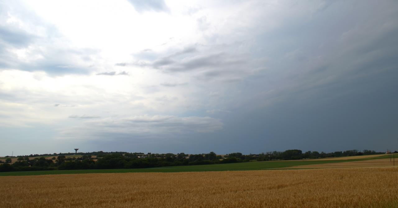
M234 152L226 155L217 155L215 152L208 154L152 154L148 152L87 152L79 153L81 157L66 157L71 153L42 154L18 156L12 163L11 157L6 156L6 162L0 160L0 172L4 171L32 171L32 170L66 170L66 169L123 169L123 168L155 168L164 166L190 166L205 164L222 164L249 161L269 160L299 160L340 156L357 156L384 154L373 150L346 150L343 152L317 152L301 150L285 150L283 152L263 152L261 154L247 154ZM34 159L29 159L36 156ZM46 159L53 156L51 159ZM57 157L55 157L57 156ZM93 158L92 156L96 156ZM12 164L11 164L12 163Z

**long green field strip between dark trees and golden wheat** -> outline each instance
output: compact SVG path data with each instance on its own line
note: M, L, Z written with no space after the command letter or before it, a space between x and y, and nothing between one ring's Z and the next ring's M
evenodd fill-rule
M75 173L142 173L142 172L197 172L197 171L236 171L236 170L263 170L275 168L288 168L292 166L325 164L337 162L354 162L361 160L373 160L388 158L380 156L375 158L361 158L351 160L278 160L265 162L242 162L229 164L196 165L196 166L168 166L159 168L140 168L140 169L86 169L86 170L50 170L50 171L17 171L2 172L0 176L9 175L48 175L48 174L75 174Z

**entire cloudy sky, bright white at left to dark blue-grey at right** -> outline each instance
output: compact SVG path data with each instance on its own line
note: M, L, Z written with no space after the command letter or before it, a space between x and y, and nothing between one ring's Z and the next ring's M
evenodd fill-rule
M0 0L0 155L398 150L397 46L395 0Z

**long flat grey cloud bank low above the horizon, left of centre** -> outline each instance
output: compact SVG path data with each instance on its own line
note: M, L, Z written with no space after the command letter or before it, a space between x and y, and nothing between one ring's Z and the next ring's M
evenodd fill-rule
M71 118L98 118L94 116L76 116ZM85 121L81 126L60 129L59 139L82 135L84 139L93 139L98 135L125 134L130 137L172 137L187 133L211 133L220 131L223 124L220 119L212 117L179 117L179 116L132 116L107 117ZM80 137L80 138L82 138Z

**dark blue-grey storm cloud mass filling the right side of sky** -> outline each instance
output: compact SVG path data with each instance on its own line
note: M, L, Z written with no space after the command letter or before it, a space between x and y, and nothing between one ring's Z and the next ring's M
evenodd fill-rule
M274 49L268 70L240 86L250 93L240 95L232 110L237 114L224 118L228 139L257 143L258 151L392 148L398 134L397 6L336 2L312 21L295 19L295 33L281 28L264 34L277 44L267 44Z

